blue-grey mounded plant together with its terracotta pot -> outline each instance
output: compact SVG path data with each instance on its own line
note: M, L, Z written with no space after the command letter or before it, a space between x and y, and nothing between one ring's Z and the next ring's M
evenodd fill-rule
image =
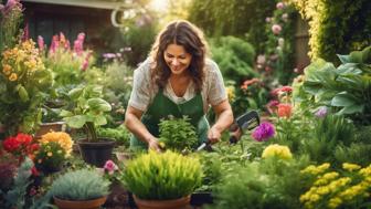
M50 192L61 209L94 209L104 205L108 188L109 181L97 171L82 169L60 176Z

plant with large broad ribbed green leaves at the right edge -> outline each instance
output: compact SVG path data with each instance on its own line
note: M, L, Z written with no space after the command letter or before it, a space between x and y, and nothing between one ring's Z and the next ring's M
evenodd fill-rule
M356 123L371 123L371 46L339 55L333 64L319 60L305 71L301 94L312 102L332 107L338 115L347 115Z

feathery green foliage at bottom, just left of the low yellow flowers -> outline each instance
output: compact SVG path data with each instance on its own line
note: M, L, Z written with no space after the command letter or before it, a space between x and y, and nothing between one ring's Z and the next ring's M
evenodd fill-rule
M308 158L234 165L218 184L215 201L208 208L300 208L299 194L307 188L300 169Z

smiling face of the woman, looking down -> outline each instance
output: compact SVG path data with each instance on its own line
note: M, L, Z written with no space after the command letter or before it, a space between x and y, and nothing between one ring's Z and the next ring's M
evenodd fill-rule
M163 52L165 62L168 64L172 74L180 75L191 64L192 55L182 45L169 44Z

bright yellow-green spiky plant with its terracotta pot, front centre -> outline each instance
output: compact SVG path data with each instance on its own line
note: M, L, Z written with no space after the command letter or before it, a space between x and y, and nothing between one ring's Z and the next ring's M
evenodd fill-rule
M141 155L130 160L123 174L124 185L134 194L139 209L184 208L201 178L197 158L170 150Z

